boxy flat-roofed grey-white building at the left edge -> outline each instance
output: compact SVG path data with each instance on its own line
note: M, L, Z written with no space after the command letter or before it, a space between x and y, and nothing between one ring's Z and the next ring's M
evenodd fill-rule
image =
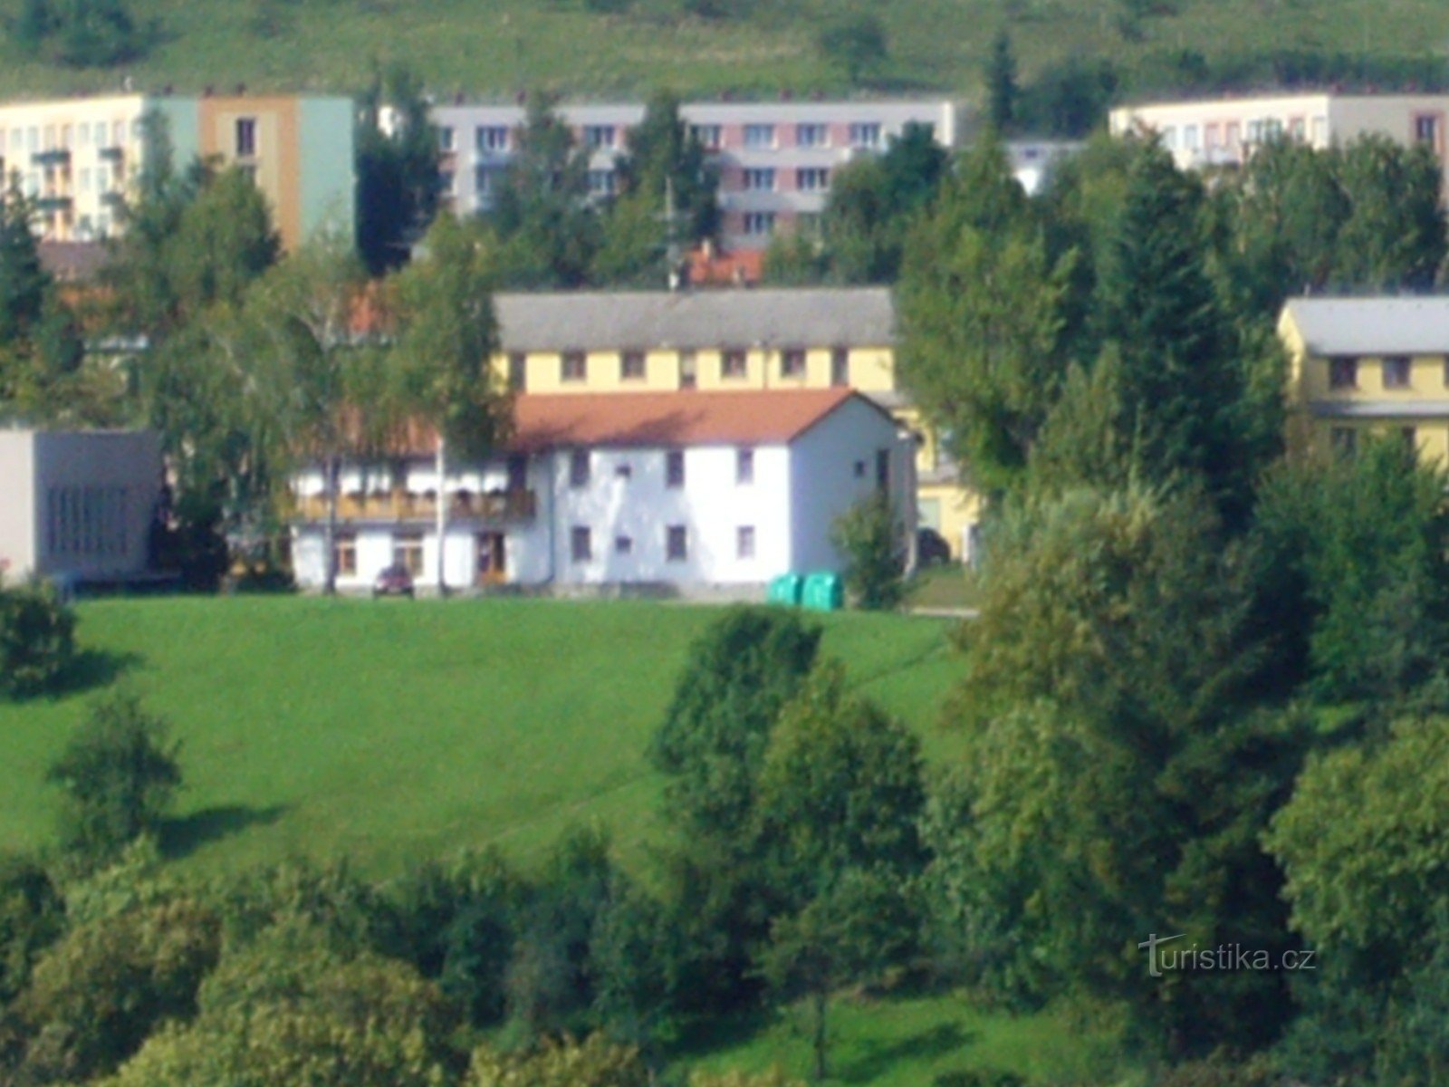
M0 430L0 572L72 580L141 574L161 494L148 430Z

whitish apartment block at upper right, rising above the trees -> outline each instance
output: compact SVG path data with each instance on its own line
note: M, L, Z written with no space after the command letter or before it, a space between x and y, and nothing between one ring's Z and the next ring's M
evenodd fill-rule
M1313 148L1382 135L1423 143L1445 161L1445 94L1279 94L1120 106L1108 114L1114 136L1156 133L1182 170L1242 165L1271 139Z

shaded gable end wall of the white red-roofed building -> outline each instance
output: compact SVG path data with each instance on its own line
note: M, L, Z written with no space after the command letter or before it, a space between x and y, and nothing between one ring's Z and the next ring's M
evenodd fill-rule
M903 530L916 525L914 446L897 425L862 400L848 400L790 446L794 497L790 512L790 570L839 571L843 557L830 544L830 526L856 501L875 493L875 454L888 451L890 493Z

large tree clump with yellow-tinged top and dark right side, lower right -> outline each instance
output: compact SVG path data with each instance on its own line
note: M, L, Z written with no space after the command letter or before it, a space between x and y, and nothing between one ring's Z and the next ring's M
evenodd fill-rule
M1133 948L1164 930L1293 945L1258 839L1306 729L1256 704L1275 661L1248 625L1243 548L1201 499L1133 488L1009 510L988 557L952 712L961 829L933 829L962 957L1016 996L1124 999L1182 1045L1271 1039L1281 975L1153 983Z

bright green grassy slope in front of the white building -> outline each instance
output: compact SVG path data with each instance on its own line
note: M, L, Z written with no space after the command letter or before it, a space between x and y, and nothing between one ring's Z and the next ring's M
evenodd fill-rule
M526 854L604 820L627 855L659 833L645 762L688 642L714 609L523 600L174 599L81 609L80 635L183 742L170 848L201 867L349 855L387 872L500 842ZM826 620L824 651L935 726L946 625ZM51 839L45 767L91 694L0 704L0 842Z

